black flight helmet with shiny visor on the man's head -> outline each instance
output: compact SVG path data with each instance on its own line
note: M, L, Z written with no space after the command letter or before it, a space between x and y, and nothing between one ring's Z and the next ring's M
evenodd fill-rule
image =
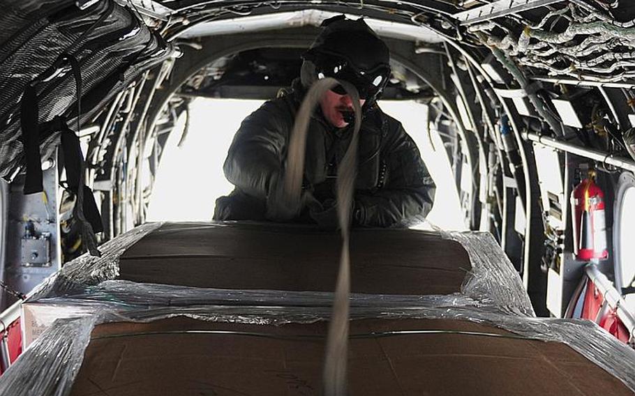
M380 97L390 77L387 45L363 19L331 17L320 25L323 30L304 54L315 65L317 79L333 77L353 84L368 108ZM334 92L344 95L343 86Z

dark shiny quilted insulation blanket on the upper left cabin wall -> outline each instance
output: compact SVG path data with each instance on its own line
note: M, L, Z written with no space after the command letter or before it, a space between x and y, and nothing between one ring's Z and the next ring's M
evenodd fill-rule
M25 165L20 108L27 86L35 89L36 106L29 109L37 119L45 159L59 144L56 117L73 128L89 121L116 93L173 52L130 8L114 0L82 9L76 3L0 0L0 177L7 180ZM64 61L69 57L80 69L79 86Z

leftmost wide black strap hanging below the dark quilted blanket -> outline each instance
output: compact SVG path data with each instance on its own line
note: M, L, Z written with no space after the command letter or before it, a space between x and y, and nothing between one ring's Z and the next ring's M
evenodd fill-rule
M24 180L24 194L42 192L42 159L40 158L40 131L38 128L38 96L32 84L27 84L20 101L20 123L22 144L27 161L27 176Z

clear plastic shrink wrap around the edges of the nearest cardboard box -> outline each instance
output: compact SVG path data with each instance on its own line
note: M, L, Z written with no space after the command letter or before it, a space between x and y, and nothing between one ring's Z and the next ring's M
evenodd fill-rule
M67 395L80 370L94 326L110 321L154 321L185 316L198 320L281 325L328 319L329 307L190 306L113 312L59 319L0 377L1 395ZM635 351L595 323L518 317L472 307L352 307L351 319L459 319L509 330L529 340L563 342L635 391ZM442 330L442 329L439 329ZM398 332L398 330L396 330ZM412 331L410 329L409 331ZM267 328L262 333L267 334Z

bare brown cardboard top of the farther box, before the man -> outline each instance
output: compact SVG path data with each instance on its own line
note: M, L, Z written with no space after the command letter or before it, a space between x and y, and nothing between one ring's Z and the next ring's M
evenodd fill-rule
M119 279L218 289L333 291L337 232L283 224L167 223L121 256ZM470 270L463 246L438 233L355 229L353 293L451 294Z

